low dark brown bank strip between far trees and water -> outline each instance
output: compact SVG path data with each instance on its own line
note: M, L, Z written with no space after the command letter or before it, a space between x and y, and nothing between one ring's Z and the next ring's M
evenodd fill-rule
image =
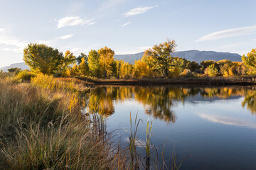
M199 86L250 86L256 84L256 77L180 77L176 79L94 79L75 77L86 86L96 85L199 85Z

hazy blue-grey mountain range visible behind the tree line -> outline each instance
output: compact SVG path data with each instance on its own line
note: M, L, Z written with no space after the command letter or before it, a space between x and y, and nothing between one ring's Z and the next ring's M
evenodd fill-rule
M144 52L139 52L133 55L114 55L114 59L117 60L124 60L124 62L129 62L134 64L135 60L139 60L144 55ZM189 50L189 51L180 51L174 52L174 57L182 57L186 60L195 61L195 62L202 62L203 60L231 60L233 62L241 62L241 56L235 53L230 52L214 52L214 51L198 51L198 50ZM10 66L2 67L4 72L7 72L7 69L12 67L18 67L21 69L29 69L29 67L24 62L19 62L15 64L11 64Z

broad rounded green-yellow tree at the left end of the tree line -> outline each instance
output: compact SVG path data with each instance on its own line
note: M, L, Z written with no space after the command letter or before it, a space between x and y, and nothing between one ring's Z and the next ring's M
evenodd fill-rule
M33 72L53 74L63 64L63 54L43 44L28 44L23 50L23 60Z

